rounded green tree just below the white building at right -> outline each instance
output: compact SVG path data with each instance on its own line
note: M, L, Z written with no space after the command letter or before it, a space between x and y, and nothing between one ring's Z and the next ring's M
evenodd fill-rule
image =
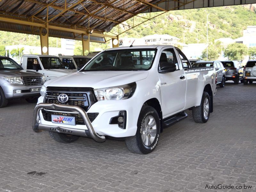
M248 55L248 48L245 44L233 43L229 44L224 51L225 57L229 60L242 61L246 55Z

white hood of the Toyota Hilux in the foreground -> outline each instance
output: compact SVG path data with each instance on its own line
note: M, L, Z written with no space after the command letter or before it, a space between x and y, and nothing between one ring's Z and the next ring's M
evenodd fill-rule
M113 87L147 78L148 71L89 71L76 72L47 81L44 85L53 87L92 87L94 89Z

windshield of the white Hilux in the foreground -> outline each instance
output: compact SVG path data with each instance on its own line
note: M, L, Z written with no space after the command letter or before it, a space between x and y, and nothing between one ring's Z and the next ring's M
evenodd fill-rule
M137 71L151 68L156 49L119 49L100 53L82 71Z

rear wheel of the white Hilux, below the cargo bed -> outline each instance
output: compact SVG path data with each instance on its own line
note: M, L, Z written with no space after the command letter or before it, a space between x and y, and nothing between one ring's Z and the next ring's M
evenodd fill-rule
M201 104L192 108L193 119L196 123L206 123L210 116L211 99L207 92L203 92Z

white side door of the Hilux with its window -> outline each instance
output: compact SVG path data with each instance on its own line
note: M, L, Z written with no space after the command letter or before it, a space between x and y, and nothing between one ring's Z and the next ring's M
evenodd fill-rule
M177 51L173 48L162 49L159 58L161 62L174 63L176 70L168 73L158 73L161 82L163 118L184 110L186 105L187 79Z

